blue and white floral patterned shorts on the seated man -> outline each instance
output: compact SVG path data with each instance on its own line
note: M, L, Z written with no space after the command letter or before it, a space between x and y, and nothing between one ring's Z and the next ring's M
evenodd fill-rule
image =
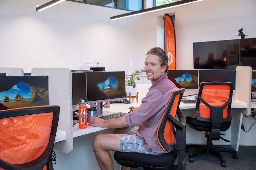
M139 152L139 153L146 153L152 155L159 155L163 153L157 152L150 152L148 151L142 142L140 136L135 134L139 127L129 127L128 133L126 135L121 135L120 138L120 149L121 152Z

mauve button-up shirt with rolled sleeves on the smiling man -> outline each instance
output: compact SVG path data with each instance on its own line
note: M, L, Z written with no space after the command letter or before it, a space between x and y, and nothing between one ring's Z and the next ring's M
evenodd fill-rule
M171 92L177 89L179 88L168 79L167 74L161 75L149 88L141 105L125 116L129 127L139 125L140 129L136 131L136 135L142 138L148 151L167 153L158 143L157 129Z

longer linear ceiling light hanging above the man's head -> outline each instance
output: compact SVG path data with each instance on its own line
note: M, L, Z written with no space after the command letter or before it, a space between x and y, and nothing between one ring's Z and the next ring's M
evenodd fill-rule
M189 3L194 3L194 2L199 2L199 1L203 1L203 0L181 0L181 1L173 2L173 3L169 3L169 4L166 4L166 5L161 5L161 6L156 6L156 7L152 7L152 8L142 9L142 10L134 11L134 12L131 12L131 13L126 13L126 14L116 15L116 16L110 17L110 20L117 20L117 19L121 19L121 18L135 16L135 15L151 13L151 12L154 12L154 11L168 9L168 8L181 6L181 5L185 5L185 4L189 4Z

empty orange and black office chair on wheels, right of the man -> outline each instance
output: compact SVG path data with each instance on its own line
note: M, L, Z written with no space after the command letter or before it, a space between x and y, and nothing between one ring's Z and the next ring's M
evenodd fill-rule
M233 83L231 82L202 82L196 102L196 118L186 117L187 125L197 131L205 131L207 138L205 145L186 145L188 148L198 148L189 154L189 162L200 153L211 153L219 158L221 166L226 167L225 159L220 152L230 152L237 159L235 150L213 147L212 140L223 139L220 131L227 130L231 125L231 102Z

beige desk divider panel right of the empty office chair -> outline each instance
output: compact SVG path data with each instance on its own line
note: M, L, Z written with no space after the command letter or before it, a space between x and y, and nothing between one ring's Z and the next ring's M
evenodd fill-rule
M247 110L243 114L251 114L251 84L252 68L246 66L236 67L236 99L247 103Z

